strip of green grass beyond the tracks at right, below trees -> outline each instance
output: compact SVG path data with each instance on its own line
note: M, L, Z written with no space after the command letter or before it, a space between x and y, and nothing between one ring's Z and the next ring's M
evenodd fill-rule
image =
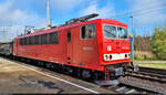
M153 67L153 68L164 68L166 70L166 63L154 63L154 64L138 64L139 66L143 67Z

